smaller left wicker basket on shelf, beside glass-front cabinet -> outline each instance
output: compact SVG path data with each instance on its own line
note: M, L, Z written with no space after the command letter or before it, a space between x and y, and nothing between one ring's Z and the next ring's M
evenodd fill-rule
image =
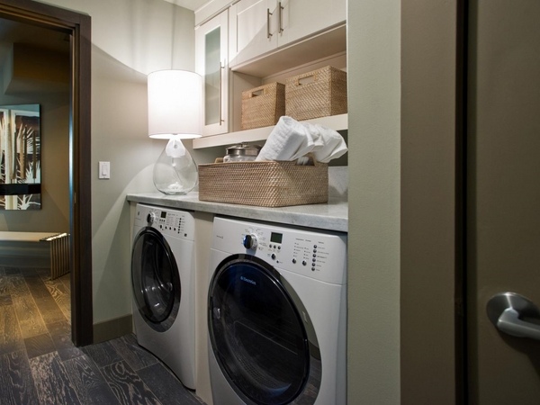
M242 130L275 125L285 114L285 85L270 83L242 92Z

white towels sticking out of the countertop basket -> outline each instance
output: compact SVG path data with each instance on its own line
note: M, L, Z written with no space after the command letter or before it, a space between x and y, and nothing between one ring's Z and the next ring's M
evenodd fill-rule
M282 116L256 160L296 160L302 165L311 153L318 162L329 163L346 152L347 144L336 130Z

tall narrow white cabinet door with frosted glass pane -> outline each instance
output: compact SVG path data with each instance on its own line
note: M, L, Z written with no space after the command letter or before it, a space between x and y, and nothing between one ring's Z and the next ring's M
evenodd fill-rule
M228 10L195 30L195 69L204 81L204 136L229 131L228 39Z

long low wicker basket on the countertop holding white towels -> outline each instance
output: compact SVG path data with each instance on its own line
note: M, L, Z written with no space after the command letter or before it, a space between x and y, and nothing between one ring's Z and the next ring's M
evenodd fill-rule
M328 202L328 166L282 161L199 165L199 200L259 207Z

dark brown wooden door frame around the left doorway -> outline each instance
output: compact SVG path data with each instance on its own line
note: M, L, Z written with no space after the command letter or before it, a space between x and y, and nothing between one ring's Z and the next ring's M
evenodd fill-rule
M69 232L71 336L77 346L93 342L92 210L90 156L91 18L31 0L0 0L0 17L70 35Z

